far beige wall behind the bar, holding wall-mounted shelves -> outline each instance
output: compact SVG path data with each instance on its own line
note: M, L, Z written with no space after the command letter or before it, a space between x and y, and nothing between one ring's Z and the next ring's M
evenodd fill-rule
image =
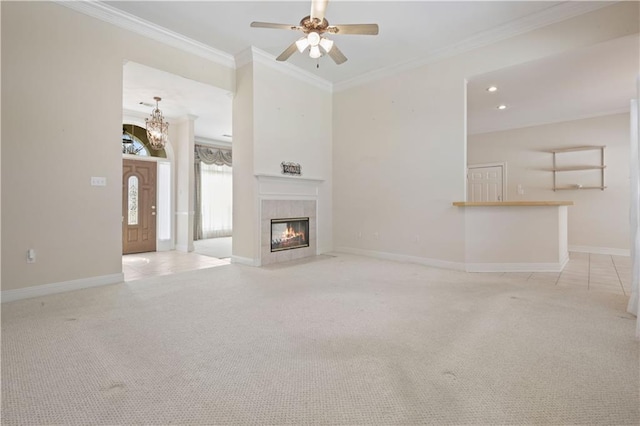
M605 185L600 190L553 191L554 148L606 145ZM469 135L469 164L506 162L510 201L568 200L569 246L591 251L629 250L629 114L616 114L502 132ZM571 165L596 164L599 151L556 154ZM569 165L567 163L564 163ZM564 183L598 183L599 170L562 172ZM517 192L522 185L524 194Z

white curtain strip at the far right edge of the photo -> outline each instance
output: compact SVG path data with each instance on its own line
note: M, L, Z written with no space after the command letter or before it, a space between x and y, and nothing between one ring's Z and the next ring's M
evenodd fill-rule
M638 80L640 91L640 78ZM640 143L638 132L640 126L640 111L638 100L631 101L631 170L630 188L631 202L629 209L629 222L631 228L631 296L627 311L638 316L640 305ZM636 337L640 338L640 318L636 322Z

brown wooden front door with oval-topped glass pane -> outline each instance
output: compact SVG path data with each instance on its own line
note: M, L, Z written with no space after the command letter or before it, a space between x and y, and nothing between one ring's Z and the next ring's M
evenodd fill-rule
M156 163L122 160L122 254L156 251Z

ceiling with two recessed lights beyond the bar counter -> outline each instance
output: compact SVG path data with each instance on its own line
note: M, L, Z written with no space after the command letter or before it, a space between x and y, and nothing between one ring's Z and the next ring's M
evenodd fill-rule
M475 76L467 85L469 133L629 110L639 71L638 35ZM497 91L487 91L496 86ZM498 105L507 108L498 110Z

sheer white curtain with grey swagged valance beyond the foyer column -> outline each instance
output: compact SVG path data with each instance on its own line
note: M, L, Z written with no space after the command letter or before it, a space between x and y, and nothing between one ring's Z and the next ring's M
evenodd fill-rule
M194 240L232 234L231 150L195 146Z

